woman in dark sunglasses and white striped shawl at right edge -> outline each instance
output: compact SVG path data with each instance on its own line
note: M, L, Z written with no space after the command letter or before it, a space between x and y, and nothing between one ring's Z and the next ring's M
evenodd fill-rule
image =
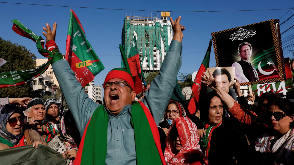
M294 110L287 99L276 98L266 105L270 131L255 142L258 164L294 164Z

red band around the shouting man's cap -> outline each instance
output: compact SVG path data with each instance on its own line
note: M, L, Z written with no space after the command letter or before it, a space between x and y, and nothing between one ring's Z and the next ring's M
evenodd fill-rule
M124 81L126 81L130 85L132 91L135 90L135 84L134 84L133 77L131 76L131 74L127 70L125 70L123 68L115 68L115 69L111 70L106 75L104 83L108 82L110 79L115 79L115 78L123 79Z

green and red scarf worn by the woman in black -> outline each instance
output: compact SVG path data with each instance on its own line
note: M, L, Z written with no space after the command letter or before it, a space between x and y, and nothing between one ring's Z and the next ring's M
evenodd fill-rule
M205 130L206 130L206 135L204 136L202 142L201 142L201 147L205 148L205 156L208 158L208 154L209 154L209 149L210 149L210 141L211 141L211 136L212 136L212 132L213 130L217 129L218 127L220 127L220 124L223 122L223 120L220 121L220 123L218 123L216 126L211 126L209 124L205 125Z

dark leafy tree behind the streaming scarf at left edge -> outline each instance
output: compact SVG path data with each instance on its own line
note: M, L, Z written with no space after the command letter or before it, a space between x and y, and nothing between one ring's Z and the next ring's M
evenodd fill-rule
M29 70L36 68L36 56L25 46L13 44L0 37L0 57L7 62L0 67L0 72ZM0 97L28 97L32 93L30 83L9 88L0 88Z

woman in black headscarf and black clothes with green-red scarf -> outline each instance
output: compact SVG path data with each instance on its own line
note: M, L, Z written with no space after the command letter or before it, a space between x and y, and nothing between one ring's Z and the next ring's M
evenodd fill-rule
M199 102L200 119L205 123L206 133L200 144L210 163L247 164L249 145L243 124L234 117L225 117L225 105L219 95L206 94Z

